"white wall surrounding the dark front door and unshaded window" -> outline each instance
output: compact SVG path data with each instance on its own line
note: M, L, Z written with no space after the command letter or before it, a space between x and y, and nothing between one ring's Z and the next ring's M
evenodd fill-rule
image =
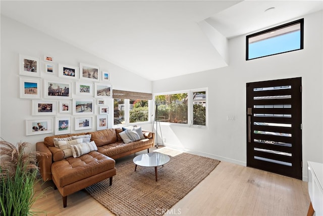
M295 18L296 20L298 18ZM246 83L302 77L303 179L323 162L322 12L304 17L304 49L245 61L245 35L229 40L229 66L153 82L153 93L208 88L208 128L161 125L166 146L246 165ZM234 115L234 121L227 121Z

